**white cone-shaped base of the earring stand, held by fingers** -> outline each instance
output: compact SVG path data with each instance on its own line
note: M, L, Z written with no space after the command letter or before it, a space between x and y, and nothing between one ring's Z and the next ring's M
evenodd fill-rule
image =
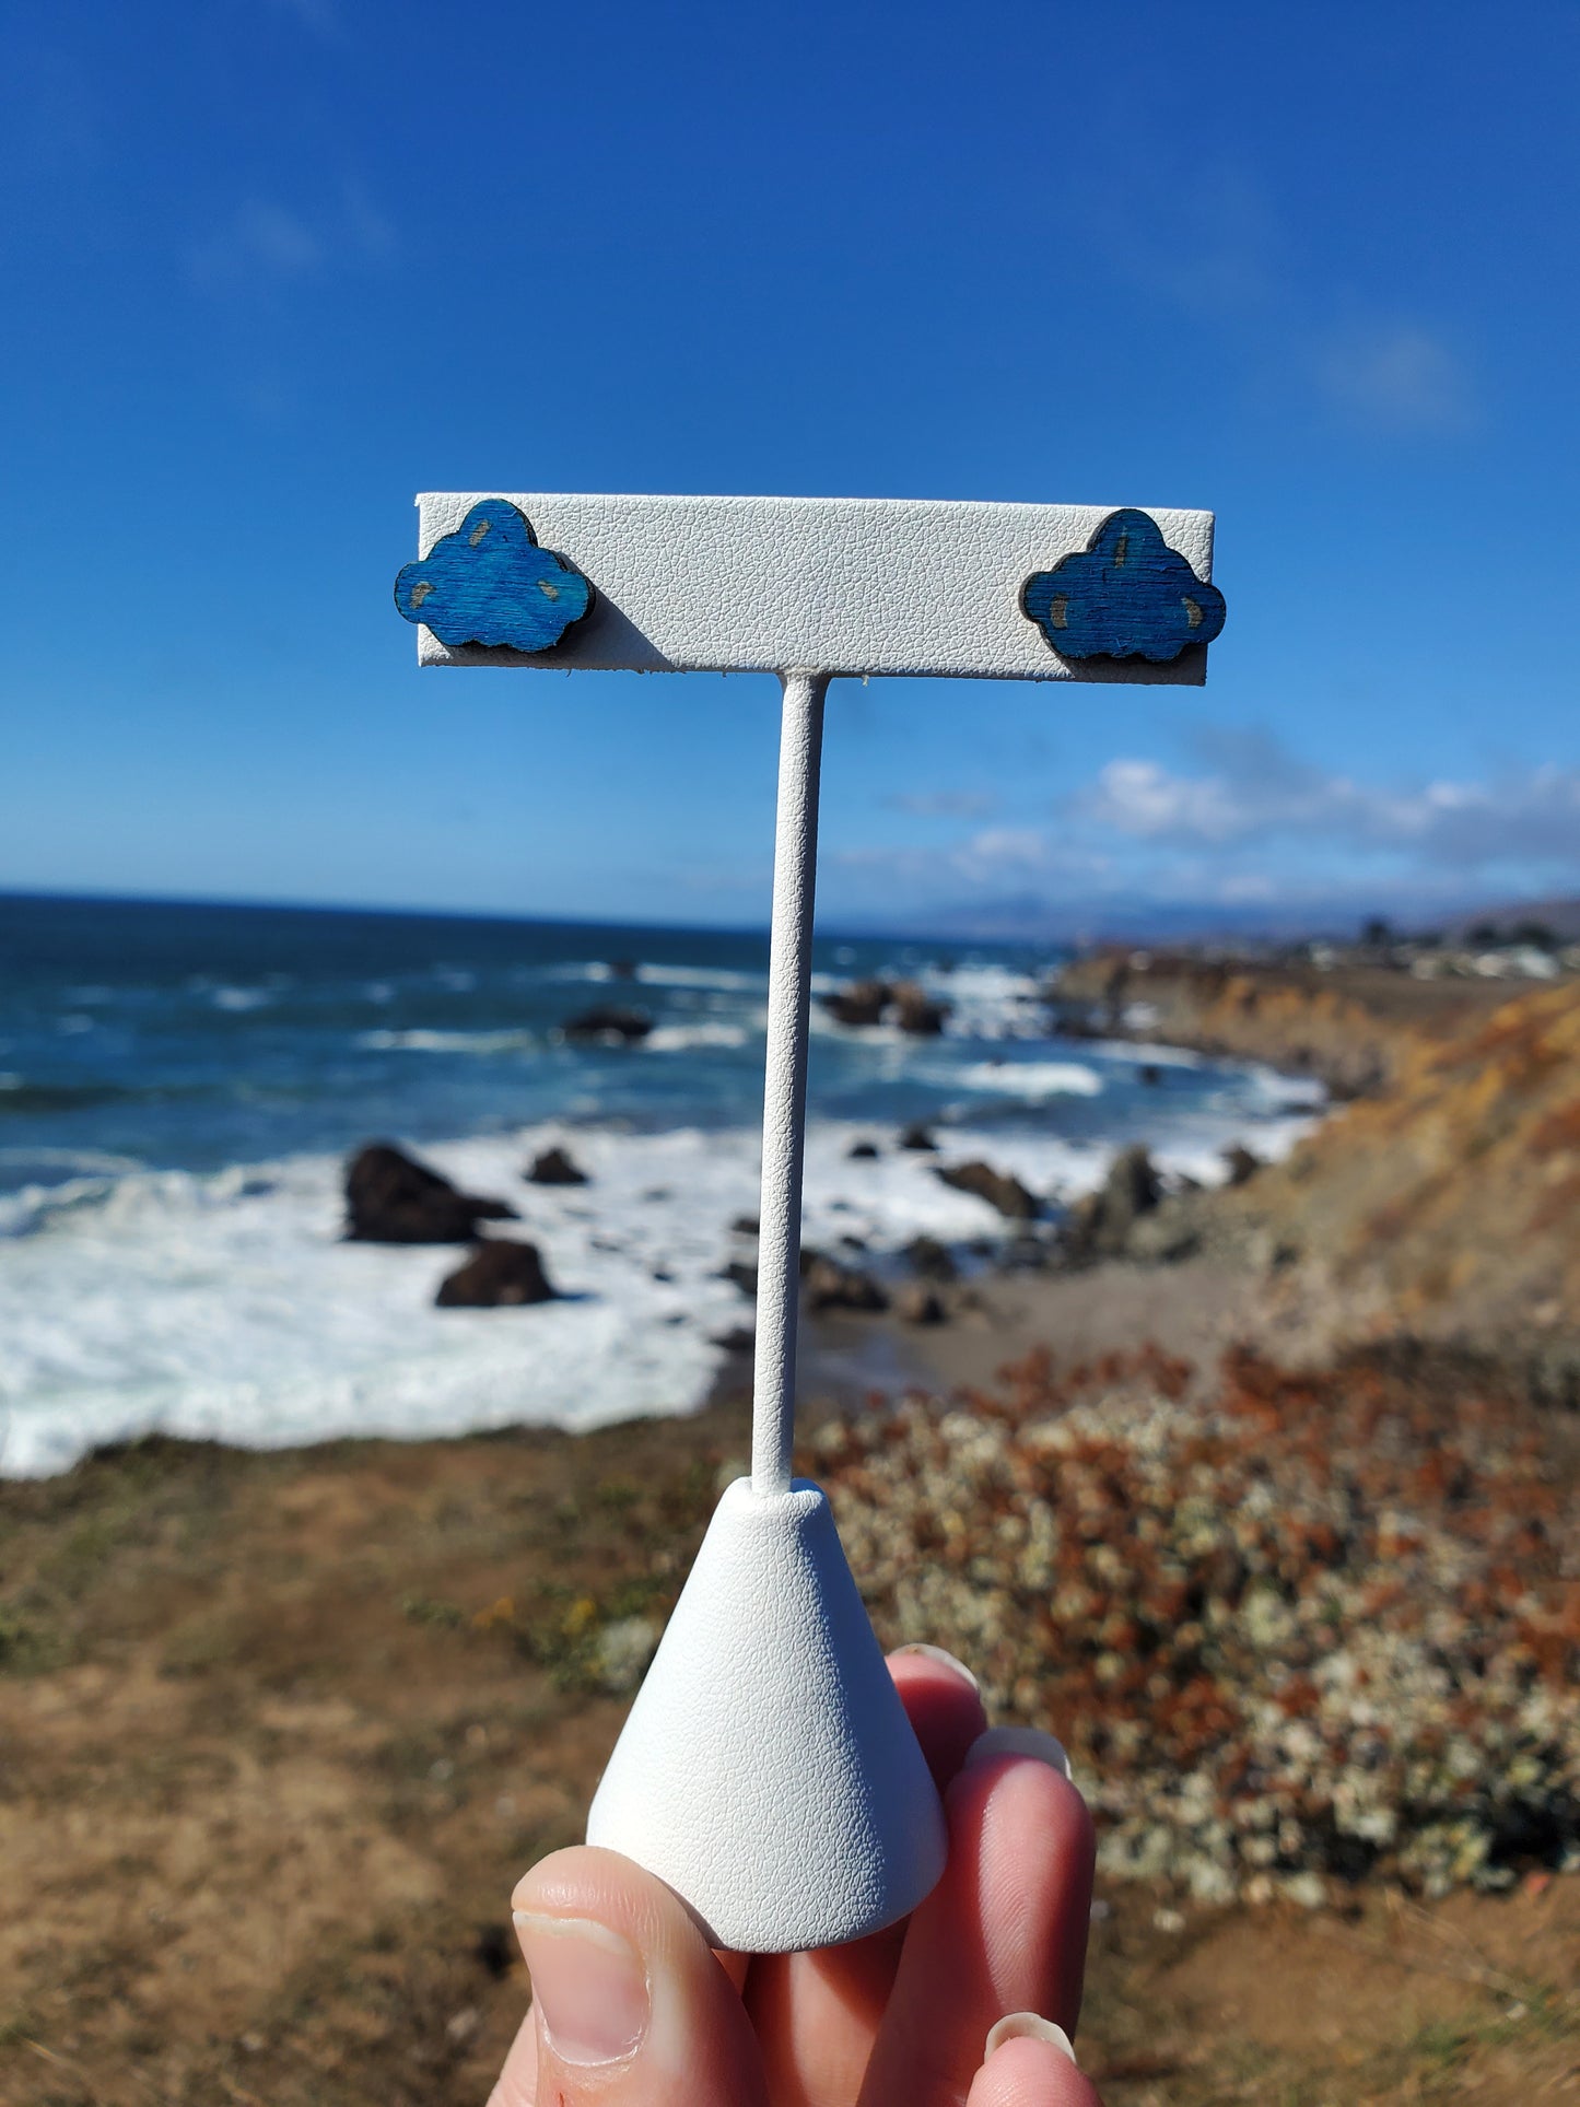
M944 1871L944 1810L817 1485L737 1479L588 1816L716 1947L876 1932Z

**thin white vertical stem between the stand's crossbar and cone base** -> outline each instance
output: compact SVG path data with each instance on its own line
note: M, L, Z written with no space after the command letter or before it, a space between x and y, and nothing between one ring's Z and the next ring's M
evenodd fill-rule
M790 1490L801 1302L801 1159L807 1142L807 1011L817 883L817 777L826 672L788 672L773 834L769 1054L763 1085L763 1214L756 1254L752 1492Z

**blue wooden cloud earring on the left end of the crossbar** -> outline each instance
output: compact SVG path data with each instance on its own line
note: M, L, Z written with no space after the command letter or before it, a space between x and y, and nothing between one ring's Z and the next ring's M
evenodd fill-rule
M472 506L455 533L396 577L396 607L445 645L550 651L592 607L592 586L503 497Z

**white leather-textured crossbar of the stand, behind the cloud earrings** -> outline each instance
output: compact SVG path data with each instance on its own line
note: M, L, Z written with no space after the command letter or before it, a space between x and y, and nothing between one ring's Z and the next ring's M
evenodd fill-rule
M423 666L592 666L638 672L954 674L1199 687L1207 651L1169 664L1055 655L1022 613L1034 571L1087 546L1117 506L986 506L889 497L573 497L442 491L417 499L419 556L474 504L508 497L598 594L552 651L449 649ZM1211 512L1146 508L1211 577Z

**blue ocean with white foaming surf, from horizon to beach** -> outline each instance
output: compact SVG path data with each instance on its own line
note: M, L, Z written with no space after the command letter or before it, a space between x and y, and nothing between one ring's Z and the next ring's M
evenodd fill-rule
M1049 1205L1144 1140L1180 1176L1277 1157L1312 1085L1047 1035L1058 950L822 938L815 992L904 976L937 1039L813 1016L807 1239L895 1271L1009 1226L940 1182L986 1157ZM640 1045L567 1039L592 1003ZM594 1426L702 1403L750 1323L767 936L0 898L0 1475L164 1431L242 1445ZM940 1157L897 1150L927 1121ZM434 1308L455 1249L341 1241L364 1140L508 1199L562 1300ZM851 1146L874 1142L876 1159ZM565 1144L586 1186L533 1186Z

